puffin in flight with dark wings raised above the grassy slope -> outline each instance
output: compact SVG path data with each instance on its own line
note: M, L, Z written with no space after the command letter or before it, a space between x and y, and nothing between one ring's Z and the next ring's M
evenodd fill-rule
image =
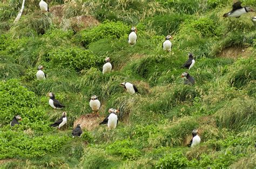
M252 8L250 8L248 6L242 7L241 4L242 3L240 1L234 3L232 5L233 6L232 11L225 13L223 15L223 17L236 17L236 18L239 18L241 15L243 15L243 14L245 14L247 12L254 11Z

